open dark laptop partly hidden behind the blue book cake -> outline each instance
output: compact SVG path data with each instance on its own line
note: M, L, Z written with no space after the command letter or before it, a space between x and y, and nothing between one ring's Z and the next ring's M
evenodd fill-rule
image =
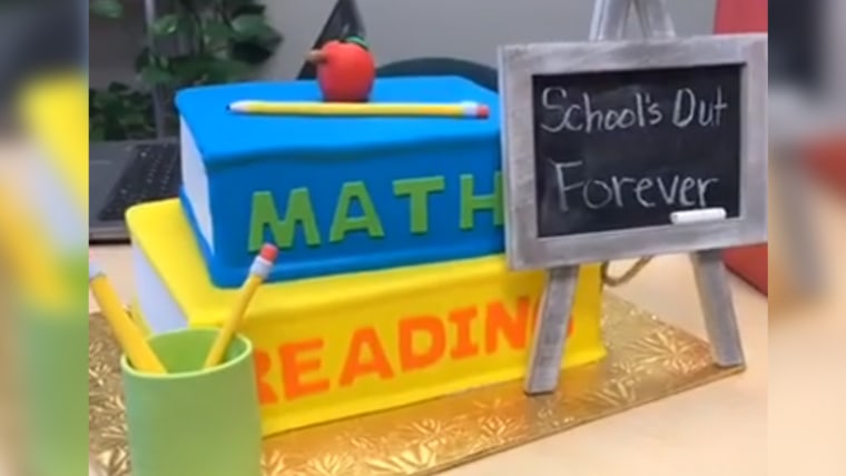
M363 34L354 0L338 0L314 48L351 34ZM314 66L304 62L298 79L312 79ZM89 244L129 240L126 210L137 204L176 197L181 185L179 142L154 139L131 142L95 142L89 149Z

